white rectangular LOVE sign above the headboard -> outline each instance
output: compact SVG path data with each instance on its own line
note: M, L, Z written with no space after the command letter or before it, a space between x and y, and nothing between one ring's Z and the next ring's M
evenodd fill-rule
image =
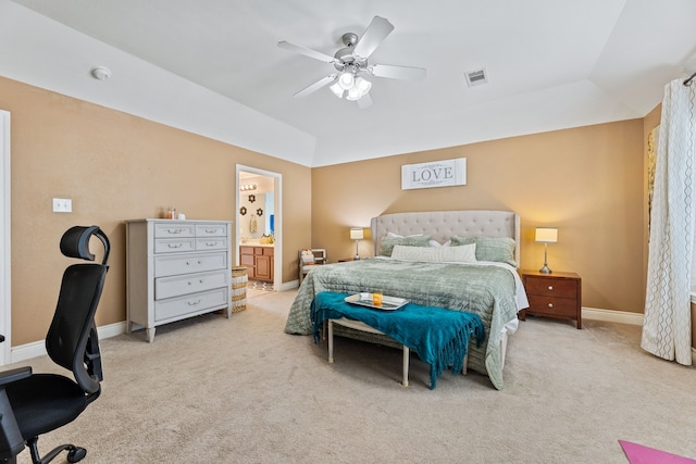
M401 190L467 185L467 159L401 166Z

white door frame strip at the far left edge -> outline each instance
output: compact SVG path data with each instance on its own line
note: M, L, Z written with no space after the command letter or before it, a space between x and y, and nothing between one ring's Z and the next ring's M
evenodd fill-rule
M12 348L10 174L10 112L0 110L0 365L10 362Z

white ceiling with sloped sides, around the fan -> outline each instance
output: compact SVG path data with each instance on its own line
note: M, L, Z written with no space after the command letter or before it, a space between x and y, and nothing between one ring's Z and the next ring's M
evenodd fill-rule
M371 78L365 110L294 98L334 68L277 42L333 55L375 15L395 29L370 61L427 77ZM694 0L0 0L0 75L322 166L643 117L694 30Z

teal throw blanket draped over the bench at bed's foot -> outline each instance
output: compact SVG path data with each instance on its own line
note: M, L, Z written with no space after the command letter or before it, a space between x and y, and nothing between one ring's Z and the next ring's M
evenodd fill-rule
M311 304L310 317L314 341L319 342L322 324L326 319L346 317L360 321L401 344L415 351L431 365L431 389L446 367L452 374L461 373L469 347L470 334L480 346L486 337L481 317L463 311L421 306L408 303L396 311L382 311L346 303L347 293L322 291Z

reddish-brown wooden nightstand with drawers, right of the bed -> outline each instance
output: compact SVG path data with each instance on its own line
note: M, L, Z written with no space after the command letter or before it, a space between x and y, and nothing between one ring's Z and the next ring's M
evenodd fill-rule
M520 271L520 275L530 300L530 308L520 312L522 321L531 314L576 321L582 328L582 279L577 274Z

